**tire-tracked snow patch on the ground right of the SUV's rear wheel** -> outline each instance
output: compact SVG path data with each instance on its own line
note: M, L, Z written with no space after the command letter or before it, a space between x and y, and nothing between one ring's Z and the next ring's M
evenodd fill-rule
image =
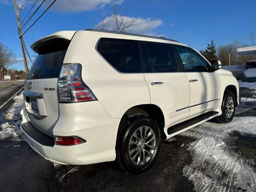
M256 191L255 161L237 152L237 135L256 138L256 117L234 117L228 124L205 122L180 135L197 138L187 145L192 163L183 168L200 192Z

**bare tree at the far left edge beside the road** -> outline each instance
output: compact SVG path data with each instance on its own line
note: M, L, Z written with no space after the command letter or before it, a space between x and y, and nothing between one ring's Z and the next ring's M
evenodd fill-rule
M15 56L11 49L0 43L0 79L4 80L4 72L15 62Z

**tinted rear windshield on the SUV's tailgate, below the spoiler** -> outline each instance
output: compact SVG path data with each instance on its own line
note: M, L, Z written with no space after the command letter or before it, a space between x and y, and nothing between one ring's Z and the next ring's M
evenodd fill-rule
M28 72L27 79L58 78L66 51L39 54Z

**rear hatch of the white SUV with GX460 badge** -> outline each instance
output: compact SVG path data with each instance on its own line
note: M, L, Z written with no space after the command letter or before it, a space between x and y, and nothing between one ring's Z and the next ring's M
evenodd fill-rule
M31 46L38 56L26 76L24 103L31 124L49 136L59 117L58 77L74 33L58 32Z

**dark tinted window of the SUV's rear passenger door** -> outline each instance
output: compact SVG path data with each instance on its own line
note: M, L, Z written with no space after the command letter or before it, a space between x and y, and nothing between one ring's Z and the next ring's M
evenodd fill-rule
M177 72L178 64L168 44L145 43L154 72Z

